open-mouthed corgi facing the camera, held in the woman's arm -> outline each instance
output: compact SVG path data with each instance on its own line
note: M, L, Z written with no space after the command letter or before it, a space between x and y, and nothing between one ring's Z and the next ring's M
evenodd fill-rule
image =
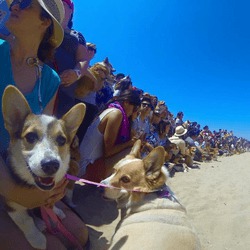
M75 105L60 120L35 115L23 94L9 85L3 94L2 110L10 135L7 166L14 181L45 192L53 189L68 171L70 145L85 115L85 105ZM30 245L46 249L46 237L36 227L28 209L9 200L5 200L5 205ZM54 212L65 216L55 206Z

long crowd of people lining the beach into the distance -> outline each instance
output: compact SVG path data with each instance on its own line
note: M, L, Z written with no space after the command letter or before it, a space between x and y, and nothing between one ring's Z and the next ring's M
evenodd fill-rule
M197 161L209 160L212 149L217 149L218 155L249 150L250 142L236 137L232 131L211 132L207 125L201 128L197 122L184 120L182 111L175 116L164 100L134 86L130 76L115 73L111 64L112 81L104 81L101 88L96 87L78 98L75 95L78 80L87 76L94 84L97 81L89 70L97 46L86 42L84 36L73 29L71 0L14 0L10 1L10 12L6 22L10 35L0 36L1 97L8 84L15 85L35 114L53 114L58 118L76 103L86 105L86 115L77 133L80 177L101 181L110 175L113 165L137 139L142 141L141 157L154 147L163 146L167 167L187 164L192 168L190 157ZM58 202L67 214L63 223L84 246L88 240L86 226L60 202L68 181L62 180L48 192L17 186L6 166L10 138L4 128L2 110L0 126L1 196L27 208ZM190 147L195 148L193 155L188 151ZM3 249L31 249L3 208L0 220ZM6 235L6 228L11 234ZM48 249L68 247L55 236L47 235L47 240Z

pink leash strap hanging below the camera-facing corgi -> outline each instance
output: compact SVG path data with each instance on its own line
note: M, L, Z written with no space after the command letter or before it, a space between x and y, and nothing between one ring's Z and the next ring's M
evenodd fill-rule
M77 250L83 250L78 240L74 237L72 233L70 233L66 229L66 227L62 224L61 219L54 213L51 208L46 208L44 206L41 207L41 214L49 233L53 235L62 233L65 238L67 238L75 247L77 247ZM51 225L51 222L54 225L53 227Z

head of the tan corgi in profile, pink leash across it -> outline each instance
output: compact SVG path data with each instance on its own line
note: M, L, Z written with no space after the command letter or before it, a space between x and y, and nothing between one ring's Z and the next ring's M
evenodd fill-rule
M140 140L138 140L140 143ZM137 142L134 147L137 147ZM134 147L128 156L114 167L114 173L102 181L118 189L105 188L104 197L113 200L138 200L142 193L151 192L164 185L167 171L164 171L165 150L163 147L153 149L143 160L135 158ZM140 192L132 192L141 191Z

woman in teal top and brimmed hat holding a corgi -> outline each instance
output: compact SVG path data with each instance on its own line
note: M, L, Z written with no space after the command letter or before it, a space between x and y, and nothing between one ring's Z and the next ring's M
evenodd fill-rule
M12 84L25 95L34 113L52 114L60 78L43 61L53 55L54 49L63 39L60 25L64 18L63 4L61 0L14 0L10 5L10 12L6 26L12 39L8 39L8 42L0 40L0 98L2 99L5 87ZM0 138L0 195L27 208L50 205L64 196L66 180L48 192L15 185L4 162L9 136L4 128L2 109ZM59 207L66 214L63 223L84 245L88 237L85 225L65 205L59 203ZM0 221L0 242L3 249L32 249L1 204ZM47 237L47 242L47 249L69 247L52 235Z

